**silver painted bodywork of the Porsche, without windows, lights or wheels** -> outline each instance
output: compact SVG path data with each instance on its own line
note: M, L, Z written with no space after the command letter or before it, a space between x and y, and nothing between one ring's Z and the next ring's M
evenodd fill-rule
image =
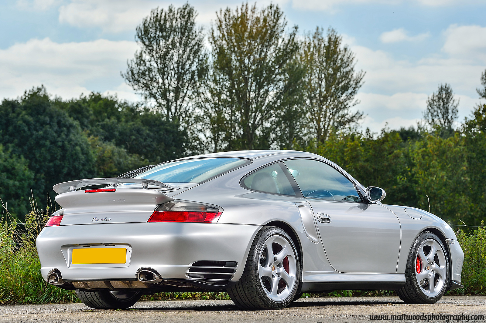
M238 262L232 278L236 281L243 273L255 235L271 223L289 228L295 235L302 260L301 279L310 286L309 290L318 291L319 286L325 286L318 284L327 282L349 283L347 287L361 287L366 282L376 286L381 282L402 284L412 242L427 230L441 236L444 243L445 239L455 241L445 245L451 259L452 280L461 281L462 249L451 227L429 212L380 202L307 200L253 192L240 185L244 176L262 166L308 158L329 163L365 191L341 167L321 156L289 150L251 150L204 157L244 157L252 163L201 184L167 183L180 188L167 193L157 191L155 186L142 190L141 186L129 185L126 187L130 188L117 188L113 194L76 191L57 195L56 201L65 207L61 226L44 228L37 238L43 277L58 269L66 281L120 282L135 279L138 270L147 267L164 279L190 279L187 272L193 262L221 260ZM185 159L190 158L193 157ZM218 223L147 223L156 205L168 198L217 205L224 211ZM121 199L124 201L113 202ZM412 218L405 209L413 210L414 215L418 212L421 218ZM317 213L327 215L331 221L318 221ZM91 222L93 218L110 220ZM130 246L129 265L73 268L69 248L82 243Z

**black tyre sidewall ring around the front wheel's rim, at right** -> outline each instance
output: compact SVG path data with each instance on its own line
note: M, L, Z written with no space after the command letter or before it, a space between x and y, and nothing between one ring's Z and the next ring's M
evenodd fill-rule
M418 281L417 281L417 277L415 275L415 262L417 261L417 254L418 254L418 247L420 246L420 244L422 244L422 242L424 242L425 240L428 240L428 239L433 239L435 240L437 243L439 243L439 245L441 246L442 248L442 251L444 252L444 257L446 258L446 279L444 281L444 287L442 288L442 291L437 294L437 296L431 298L427 295L425 295L423 292L422 292L422 289L420 288L420 286L418 285ZM409 268L411 270L411 278L412 278L412 283L415 287L415 290L417 291L417 294L418 296L426 303L435 303L437 302L440 298L442 298L442 296L444 296L444 293L447 291L448 289L448 286L449 286L449 282L450 282L450 263L449 263L449 254L447 253L447 249L446 247L444 246L444 244L442 243L442 241L439 239L439 237L437 237L437 235L435 235L434 233L432 232L423 232L422 234L420 234L417 239L415 239L415 242L414 244L412 245L412 250L413 250L413 253L412 253L412 259L410 259L410 264L409 264Z

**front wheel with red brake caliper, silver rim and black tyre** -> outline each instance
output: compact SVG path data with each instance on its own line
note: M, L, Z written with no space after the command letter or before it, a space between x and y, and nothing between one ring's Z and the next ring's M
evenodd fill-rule
M431 246L427 244L431 244ZM422 252L419 254L420 248L422 248ZM434 250L437 251L434 252ZM428 231L420 233L408 255L405 285L397 291L397 294L405 303L433 304L437 302L448 289L449 266L447 250L439 237Z

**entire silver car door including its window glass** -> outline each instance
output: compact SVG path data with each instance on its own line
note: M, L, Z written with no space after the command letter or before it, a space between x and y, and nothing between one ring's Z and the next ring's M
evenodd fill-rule
M312 206L331 266L341 273L396 273L400 223L381 204L367 204L333 166L311 159L284 161Z

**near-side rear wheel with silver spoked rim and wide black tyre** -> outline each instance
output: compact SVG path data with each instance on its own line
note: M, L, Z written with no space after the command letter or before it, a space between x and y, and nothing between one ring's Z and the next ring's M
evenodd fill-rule
M276 226L264 226L255 237L243 275L228 290L243 309L280 309L295 297L300 261L290 236Z

